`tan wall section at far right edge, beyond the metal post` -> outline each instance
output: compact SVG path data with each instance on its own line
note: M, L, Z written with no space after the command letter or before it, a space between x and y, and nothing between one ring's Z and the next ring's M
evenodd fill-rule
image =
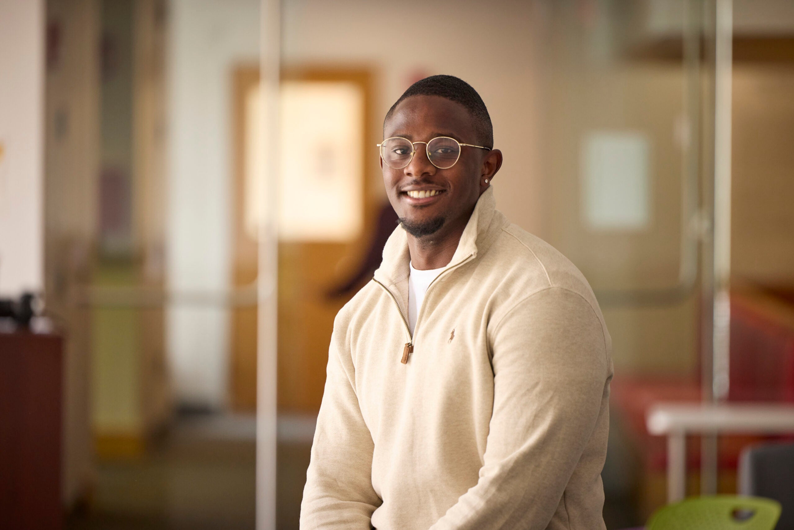
M739 64L733 91L731 273L794 288L794 65Z

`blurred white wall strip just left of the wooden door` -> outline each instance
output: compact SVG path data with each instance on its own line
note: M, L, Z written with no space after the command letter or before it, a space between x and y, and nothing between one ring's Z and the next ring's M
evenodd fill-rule
M231 280L232 73L259 56L259 0L172 0L168 51L168 288L222 292ZM172 306L177 400L222 407L229 309Z

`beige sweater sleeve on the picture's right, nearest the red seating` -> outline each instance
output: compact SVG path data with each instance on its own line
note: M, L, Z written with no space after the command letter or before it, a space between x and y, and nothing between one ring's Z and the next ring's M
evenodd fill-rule
M551 287L527 297L490 342L494 404L480 479L432 530L546 528L602 407L606 341L576 292Z

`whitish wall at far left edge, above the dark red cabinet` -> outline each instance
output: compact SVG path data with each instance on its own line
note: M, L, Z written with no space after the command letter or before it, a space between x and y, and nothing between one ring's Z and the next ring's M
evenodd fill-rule
M0 0L0 296L43 287L44 2Z

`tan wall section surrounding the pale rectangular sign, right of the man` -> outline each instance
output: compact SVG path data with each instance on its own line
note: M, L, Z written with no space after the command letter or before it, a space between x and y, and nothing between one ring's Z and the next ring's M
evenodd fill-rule
M599 66L562 58L552 68L548 134L542 145L548 241L565 253L596 292L673 287L681 246L684 149L680 65ZM649 222L641 230L594 230L582 215L580 150L593 130L638 131L649 141ZM696 296L676 304L602 304L616 372L688 374L697 364Z

